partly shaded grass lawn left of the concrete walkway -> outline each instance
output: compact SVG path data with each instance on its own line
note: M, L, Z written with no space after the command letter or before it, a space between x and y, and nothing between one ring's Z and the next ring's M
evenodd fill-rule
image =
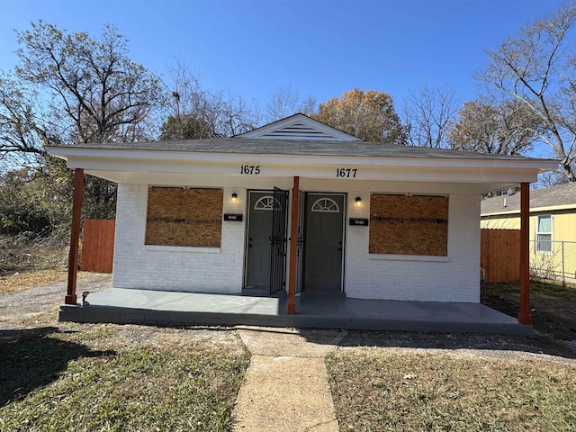
M225 431L249 355L233 332L0 330L2 431Z

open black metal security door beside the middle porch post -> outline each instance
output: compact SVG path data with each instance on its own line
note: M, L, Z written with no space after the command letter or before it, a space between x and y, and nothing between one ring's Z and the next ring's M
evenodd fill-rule
M286 268L286 211L288 208L288 191L274 188L272 208L272 234L270 242L270 293L284 290Z

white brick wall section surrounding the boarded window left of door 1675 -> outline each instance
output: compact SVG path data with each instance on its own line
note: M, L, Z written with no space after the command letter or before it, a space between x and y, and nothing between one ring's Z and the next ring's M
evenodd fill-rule
M246 190L234 188L238 202ZM243 204L229 202L224 212L243 213ZM144 245L148 185L119 184L112 285L116 288L164 289L183 292L240 293L245 222L222 221L220 248ZM246 220L246 217L244 218Z

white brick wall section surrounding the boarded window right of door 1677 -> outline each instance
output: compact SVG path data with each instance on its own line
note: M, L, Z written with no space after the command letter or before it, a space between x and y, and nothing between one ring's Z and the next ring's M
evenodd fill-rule
M353 199L348 195L350 208ZM369 200L365 201L365 212L353 217L369 217ZM368 229L347 226L347 296L424 302L480 302L479 220L478 196L450 194L447 258L369 256Z

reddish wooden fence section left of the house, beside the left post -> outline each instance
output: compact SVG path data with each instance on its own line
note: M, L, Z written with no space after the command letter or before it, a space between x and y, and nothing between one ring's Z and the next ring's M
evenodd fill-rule
M112 273L115 226L115 220L84 221L81 270Z

